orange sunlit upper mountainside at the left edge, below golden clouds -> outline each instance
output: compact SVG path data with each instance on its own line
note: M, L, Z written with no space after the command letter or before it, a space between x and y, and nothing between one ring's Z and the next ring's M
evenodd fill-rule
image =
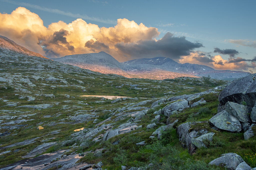
M3 50L3 49L8 49L15 53L24 54L27 56L37 56L41 58L46 58L45 56L42 56L41 54L30 51L27 48L16 44L14 41L10 40L9 38L0 35L0 50Z

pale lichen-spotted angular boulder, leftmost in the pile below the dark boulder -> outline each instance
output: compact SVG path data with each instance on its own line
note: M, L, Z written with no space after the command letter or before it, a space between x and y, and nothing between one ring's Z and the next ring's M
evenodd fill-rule
M230 132L240 132L242 130L239 120L230 115L226 110L217 113L209 121L219 129Z

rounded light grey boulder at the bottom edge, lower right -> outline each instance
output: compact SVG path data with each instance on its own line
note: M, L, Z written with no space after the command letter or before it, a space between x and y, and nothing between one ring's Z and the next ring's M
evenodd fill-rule
M236 153L226 153L222 154L221 157L216 158L215 160L212 160L209 162L209 165L217 165L217 166L223 166L230 170L235 170L236 167L244 162L244 160Z

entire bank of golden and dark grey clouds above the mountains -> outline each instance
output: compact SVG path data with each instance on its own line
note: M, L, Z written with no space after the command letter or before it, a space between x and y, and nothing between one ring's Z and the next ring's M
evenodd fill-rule
M169 57L180 63L204 64L219 70L248 70L255 68L253 59L235 58L235 49L215 48L214 53L229 55L224 60L220 55L211 56L195 49L202 43L190 42L183 37L166 33L156 40L160 32L155 27L146 27L127 19L118 19L114 27L101 27L76 19L71 23L63 21L43 25L42 19L24 7L18 7L11 14L0 13L0 35L46 57L62 57L71 54L97 53L105 51L118 61L136 58ZM229 40L244 46L255 46L255 42ZM255 48L255 47L254 47Z

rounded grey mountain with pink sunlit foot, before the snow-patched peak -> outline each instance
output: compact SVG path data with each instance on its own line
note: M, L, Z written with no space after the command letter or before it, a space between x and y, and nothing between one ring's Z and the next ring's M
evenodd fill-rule
M127 71L129 69L127 65L119 63L111 55L101 51L99 53L90 54L76 54L68 55L61 58L52 58L54 61L58 61L64 64L70 64L83 69L89 69L92 71L104 73L104 74L118 74L128 78L143 78L143 79L174 79L177 77L197 77L190 74L176 73L166 71L162 69L149 69L149 65L145 65L145 68L140 67L140 72ZM132 70L130 68L130 70ZM134 69L135 70L135 69Z

